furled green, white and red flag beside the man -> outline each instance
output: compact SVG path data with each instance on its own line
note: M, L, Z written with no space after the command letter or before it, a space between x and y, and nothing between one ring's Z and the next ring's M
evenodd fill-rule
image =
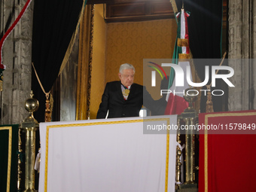
M175 15L176 21L178 23L178 30L172 56L172 63L177 64L183 69L184 86L178 87L175 85L175 71L174 69L171 69L168 87L170 93L166 96L167 105L165 114L181 114L184 109L188 107L188 102L184 100L183 96L184 90L189 87L187 84L187 79L185 78L187 74L187 66L190 66L190 62L187 61L187 59L190 59L189 38L187 30L187 17L189 16L190 14L187 11L184 11L183 8L181 9L181 12L178 12L178 14ZM192 77L191 72L190 77Z

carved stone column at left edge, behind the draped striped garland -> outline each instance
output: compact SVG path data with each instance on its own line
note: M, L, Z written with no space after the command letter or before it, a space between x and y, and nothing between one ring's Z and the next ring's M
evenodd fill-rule
M1 1L1 32L4 34L20 14L26 0ZM17 26L5 40L4 71L1 94L1 123L19 123L26 116L24 102L31 90L32 17L34 3L29 5Z

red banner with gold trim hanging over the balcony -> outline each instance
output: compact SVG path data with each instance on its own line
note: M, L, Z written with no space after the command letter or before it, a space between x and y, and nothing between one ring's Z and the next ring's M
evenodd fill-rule
M199 192L254 191L255 119L256 111L199 115L200 125L219 127L200 135Z

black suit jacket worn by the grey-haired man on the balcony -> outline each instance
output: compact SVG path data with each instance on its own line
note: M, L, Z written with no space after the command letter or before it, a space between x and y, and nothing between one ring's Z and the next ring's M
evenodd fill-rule
M112 81L105 86L102 102L99 105L99 111L97 113L97 119L105 118L107 111L108 118L139 117L142 104L142 85L132 84L130 94L127 100L124 100L120 81Z

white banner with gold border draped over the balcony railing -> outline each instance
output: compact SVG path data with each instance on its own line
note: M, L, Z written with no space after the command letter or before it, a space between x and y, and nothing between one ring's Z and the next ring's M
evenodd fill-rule
M175 191L176 135L143 134L144 120L40 123L39 192Z

